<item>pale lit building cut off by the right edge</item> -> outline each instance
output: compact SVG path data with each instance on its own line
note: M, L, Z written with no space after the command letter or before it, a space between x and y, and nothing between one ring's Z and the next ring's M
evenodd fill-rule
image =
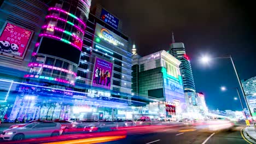
M243 90L245 91L247 102L253 115L256 118L256 76L247 80L242 80Z

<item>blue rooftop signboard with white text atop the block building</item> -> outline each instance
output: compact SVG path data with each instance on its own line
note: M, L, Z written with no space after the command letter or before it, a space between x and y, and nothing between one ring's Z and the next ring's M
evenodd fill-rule
M118 22L119 20L114 17L112 14L108 13L108 11L106 11L105 9L101 10L101 19L108 23L110 26L118 29Z

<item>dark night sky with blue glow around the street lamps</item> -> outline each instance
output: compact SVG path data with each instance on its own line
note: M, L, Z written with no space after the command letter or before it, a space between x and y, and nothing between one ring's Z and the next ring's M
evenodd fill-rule
M199 58L232 55L241 79L256 75L254 7L236 0L92 0L123 21L123 29L135 40L139 55L168 50L171 33L185 44L190 56L197 92L205 93L209 109L242 110L238 87L229 59L205 65Z

